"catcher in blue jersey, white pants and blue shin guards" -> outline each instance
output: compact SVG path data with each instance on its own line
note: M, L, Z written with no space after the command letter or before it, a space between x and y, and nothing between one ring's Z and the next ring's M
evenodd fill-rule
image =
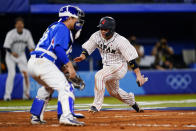
M77 121L73 114L74 87L70 85L75 84L73 81L69 83L60 69L62 65L68 65L70 78L76 78L75 69L68 57L74 40L80 36L84 12L76 6L67 5L59 10L59 18L58 22L46 29L28 62L29 74L42 85L31 106L31 124L45 123L43 114L53 90L56 90L58 115L61 116L59 124L83 126L84 122Z

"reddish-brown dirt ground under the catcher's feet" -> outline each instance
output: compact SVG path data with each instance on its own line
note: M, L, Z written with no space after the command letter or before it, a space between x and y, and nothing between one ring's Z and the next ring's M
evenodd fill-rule
M62 126L58 124L56 112L46 112L47 124L31 125L28 112L1 112L0 131L153 131L153 130L196 130L196 111L101 111L80 119L84 127Z

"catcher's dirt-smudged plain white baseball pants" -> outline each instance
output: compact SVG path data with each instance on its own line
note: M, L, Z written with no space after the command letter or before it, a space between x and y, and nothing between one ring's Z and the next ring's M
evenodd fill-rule
M69 90L70 85L64 74L53 62L49 61L45 57L36 58L33 55L28 62L28 72L33 77L39 77L47 84L47 87L56 90L58 92L58 101L60 101L62 105L63 114L68 115L71 113L69 109L68 98L69 96L73 98L73 93ZM42 100L46 100L49 94L50 93L42 87L38 90L36 97Z

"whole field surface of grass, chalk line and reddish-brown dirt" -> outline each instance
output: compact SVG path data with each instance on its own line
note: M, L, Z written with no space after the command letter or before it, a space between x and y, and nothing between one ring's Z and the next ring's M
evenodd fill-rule
M43 125L29 122L32 100L1 100L0 131L196 130L196 94L136 96L136 101L145 109L144 113L136 113L117 99L105 97L102 110L89 114L87 110L93 98L76 98L75 112L85 115L79 120L86 125L71 127L58 124L55 98L47 107L47 123Z

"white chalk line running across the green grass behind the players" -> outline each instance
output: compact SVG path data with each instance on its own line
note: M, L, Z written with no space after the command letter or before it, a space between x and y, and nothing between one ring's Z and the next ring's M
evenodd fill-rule
M188 100L179 100L179 101L143 101L138 102L140 105L158 105L158 104L168 104L168 103L196 103L196 99L188 99ZM91 104L75 104L75 108L89 108ZM103 104L103 107L122 107L127 106L126 104ZM7 106L7 107L0 107L0 110L30 110L31 106ZM52 110L56 109L57 105L48 105L47 109ZM149 107L153 109L152 107ZM157 107L155 107L157 108ZM165 108L165 107L160 107ZM144 108L148 109L148 107Z

